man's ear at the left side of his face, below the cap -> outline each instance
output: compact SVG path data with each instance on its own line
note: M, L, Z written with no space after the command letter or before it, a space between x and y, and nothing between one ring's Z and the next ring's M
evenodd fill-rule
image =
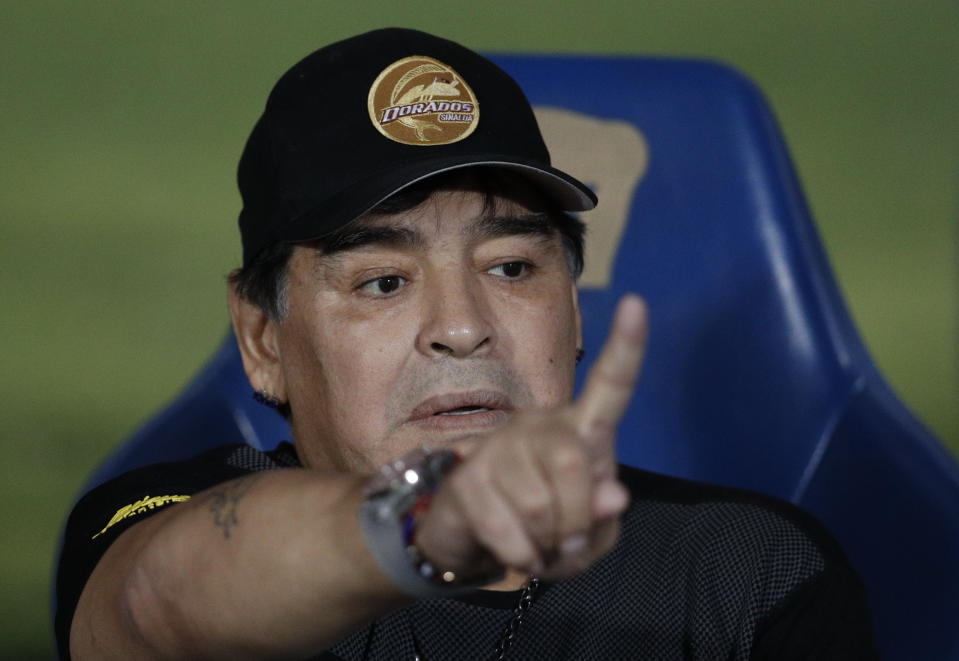
M250 386L255 391L265 390L281 403L286 402L286 381L277 343L277 325L280 322L271 319L259 306L240 296L232 282L228 296L233 334L240 347L243 370Z

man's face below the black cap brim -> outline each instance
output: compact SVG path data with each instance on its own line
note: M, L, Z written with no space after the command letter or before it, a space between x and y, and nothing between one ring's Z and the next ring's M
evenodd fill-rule
M521 197L486 202L440 189L368 216L346 247L295 249L276 346L306 465L373 470L572 398L581 329L562 241Z

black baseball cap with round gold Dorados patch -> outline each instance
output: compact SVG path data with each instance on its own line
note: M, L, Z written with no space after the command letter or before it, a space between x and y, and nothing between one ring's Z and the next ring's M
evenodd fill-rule
M240 158L243 263L328 234L397 191L458 168L507 168L565 211L596 205L550 165L519 85L447 39L387 28L321 48L270 93Z

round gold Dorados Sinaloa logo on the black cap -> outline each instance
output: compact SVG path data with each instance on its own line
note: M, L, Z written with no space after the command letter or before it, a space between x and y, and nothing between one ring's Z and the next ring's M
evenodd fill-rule
M397 60L373 81L369 95L373 126L405 145L447 145L479 123L479 104L452 68L424 55Z

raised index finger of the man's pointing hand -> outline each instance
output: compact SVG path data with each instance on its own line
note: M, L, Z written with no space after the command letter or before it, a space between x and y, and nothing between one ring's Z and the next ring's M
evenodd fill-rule
M626 412L643 362L647 330L646 304L635 294L623 296L606 344L576 401L577 426L584 437L597 429L615 428Z

